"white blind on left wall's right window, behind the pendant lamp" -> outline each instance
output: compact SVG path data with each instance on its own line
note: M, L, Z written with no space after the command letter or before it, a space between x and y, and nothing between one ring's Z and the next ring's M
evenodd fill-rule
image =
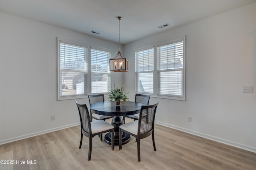
M91 49L91 93L107 93L110 89L109 59L111 53Z

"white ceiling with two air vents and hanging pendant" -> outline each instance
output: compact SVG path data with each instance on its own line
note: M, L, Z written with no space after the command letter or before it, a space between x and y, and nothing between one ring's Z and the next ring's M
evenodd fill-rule
M0 0L0 11L118 43L207 18L256 0ZM169 23L161 29L158 26ZM91 33L95 31L100 34Z

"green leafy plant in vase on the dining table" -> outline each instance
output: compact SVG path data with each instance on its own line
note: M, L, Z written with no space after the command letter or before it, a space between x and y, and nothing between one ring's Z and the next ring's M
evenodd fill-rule
M111 101L115 101L116 102L116 105L120 105L121 104L121 101L129 101L128 97L126 96L126 94L128 93L125 93L124 92L124 85L122 84L121 88L118 88L115 86L114 84L114 87L110 88L110 91L108 93L108 99L110 99Z

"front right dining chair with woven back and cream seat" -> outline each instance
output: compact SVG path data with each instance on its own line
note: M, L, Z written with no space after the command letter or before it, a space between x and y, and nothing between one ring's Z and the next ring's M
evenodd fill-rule
M143 105L140 109L139 119L126 124L122 124L119 127L119 150L122 150L122 132L129 133L137 140L137 154L138 161L140 162L140 139L146 138L152 135L152 141L154 150L156 151L156 145L154 140L154 121L156 115L157 102L153 105ZM146 120L147 118L147 120Z

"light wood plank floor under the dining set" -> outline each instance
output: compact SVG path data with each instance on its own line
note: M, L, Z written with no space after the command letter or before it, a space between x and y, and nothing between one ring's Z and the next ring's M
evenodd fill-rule
M0 160L15 161L0 170L256 170L256 153L161 125L155 125L156 152L151 136L141 140L141 162L134 137L114 151L98 137L92 142L90 161L87 137L78 149L80 126L0 145Z

